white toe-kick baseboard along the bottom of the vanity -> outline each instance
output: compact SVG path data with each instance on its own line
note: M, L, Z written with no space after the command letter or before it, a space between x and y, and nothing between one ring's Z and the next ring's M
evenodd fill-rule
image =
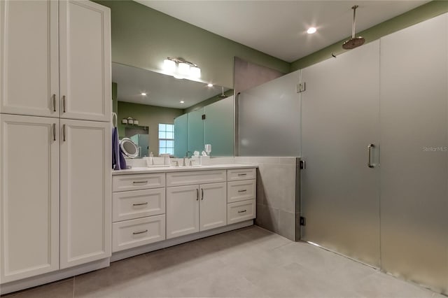
M204 237L229 232L234 229L241 229L242 227L249 227L253 225L253 220L246 220L244 222L237 222L233 225L226 225L224 227L217 227L216 229L209 229L208 231L198 232L186 236L180 236L173 239L167 239L157 243L148 244L146 246L139 246L138 248L130 248L128 250L118 251L112 254L111 262L127 259L128 257L134 257L135 255L141 255L142 253L150 253L154 250L160 250L162 248L168 248L169 246L176 246L181 243L201 239Z

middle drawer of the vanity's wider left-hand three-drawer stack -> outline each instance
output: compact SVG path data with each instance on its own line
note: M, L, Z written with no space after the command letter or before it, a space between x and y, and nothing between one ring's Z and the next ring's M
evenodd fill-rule
M165 187L114 192L112 198L113 222L165 213Z

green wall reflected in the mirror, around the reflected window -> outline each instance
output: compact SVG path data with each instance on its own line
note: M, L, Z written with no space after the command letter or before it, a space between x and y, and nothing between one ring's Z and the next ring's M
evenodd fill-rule
M121 124L123 118L134 118L139 120L139 126L149 127L149 150L154 156L158 155L159 148L159 123L174 123L174 118L183 114L180 108L164 108L162 106L148 106L146 104L132 104L130 102L118 101L118 135L125 136L125 127ZM131 126L131 125L130 125Z

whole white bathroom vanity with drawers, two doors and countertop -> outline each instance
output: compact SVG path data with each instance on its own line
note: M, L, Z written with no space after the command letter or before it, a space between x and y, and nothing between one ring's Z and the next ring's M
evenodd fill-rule
M112 261L253 225L256 166L113 171Z

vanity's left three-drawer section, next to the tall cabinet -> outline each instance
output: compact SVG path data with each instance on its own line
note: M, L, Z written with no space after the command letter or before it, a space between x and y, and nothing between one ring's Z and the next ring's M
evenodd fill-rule
M165 240L165 173L113 176L112 251Z

